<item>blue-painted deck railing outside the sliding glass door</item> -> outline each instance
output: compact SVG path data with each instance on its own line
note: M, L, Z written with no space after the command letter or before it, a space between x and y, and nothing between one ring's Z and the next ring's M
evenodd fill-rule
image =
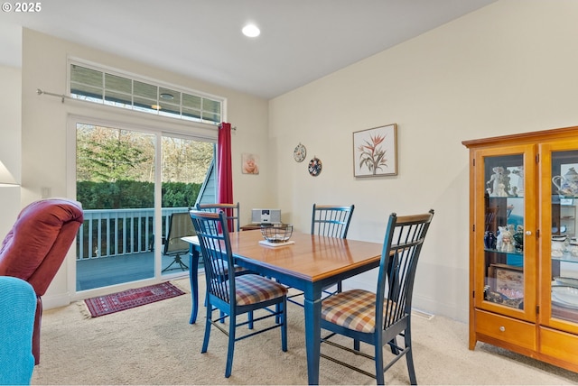
M170 215L188 207L163 207L166 234ZM89 209L77 235L77 260L147 253L154 246L154 209Z

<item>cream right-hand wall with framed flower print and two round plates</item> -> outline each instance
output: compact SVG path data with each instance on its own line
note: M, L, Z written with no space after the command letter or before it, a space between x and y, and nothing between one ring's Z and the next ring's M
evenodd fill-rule
M578 2L503 0L269 103L278 203L303 230L312 203L356 205L348 237L435 209L416 308L468 318L469 160L461 141L578 124ZM398 175L353 177L352 133L398 125ZM293 160L299 142L302 163ZM320 176L307 172L313 155ZM373 289L375 271L350 284Z

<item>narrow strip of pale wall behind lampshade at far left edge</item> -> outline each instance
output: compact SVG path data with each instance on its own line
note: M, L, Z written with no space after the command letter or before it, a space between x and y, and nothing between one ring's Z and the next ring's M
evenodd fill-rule
M20 182L21 89L20 69L0 66L0 161ZM0 241L10 231L20 211L20 188L0 187Z

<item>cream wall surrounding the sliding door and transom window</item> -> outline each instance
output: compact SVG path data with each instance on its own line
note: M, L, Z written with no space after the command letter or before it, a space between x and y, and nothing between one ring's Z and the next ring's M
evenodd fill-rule
M262 160L269 156L267 150L267 102L265 99L247 96L206 82L184 78L104 51L89 49L69 41L23 30L22 69L22 206L41 198L41 188L51 188L52 197L68 197L74 180L67 179L67 122L71 115L92 117L108 122L127 124L131 127L157 128L172 133L196 130L200 135L216 138L216 130L193 129L191 124L175 120L116 109L95 106L86 102L66 100L59 97L39 96L37 88L58 95L67 91L67 58L89 60L113 69L132 72L142 77L156 79L168 84L200 90L227 98L227 122L237 126L232 134L234 199L242 202L244 220L250 218L251 207L272 205L274 197L267 190L266 181L272 173L266 162L261 162L260 174L241 174L241 153L253 152ZM191 63L191 66L194 63ZM72 147L74 145L72 144ZM67 257L56 278L52 281L43 302L45 308L68 304L74 288L70 271L74 269L74 255Z

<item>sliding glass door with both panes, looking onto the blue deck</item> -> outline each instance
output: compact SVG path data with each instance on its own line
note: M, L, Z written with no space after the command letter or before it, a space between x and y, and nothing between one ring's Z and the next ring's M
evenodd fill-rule
M76 192L85 216L77 238L77 292L188 273L181 236L171 242L188 224L169 234L172 214L195 205L213 149L186 136L76 124Z

